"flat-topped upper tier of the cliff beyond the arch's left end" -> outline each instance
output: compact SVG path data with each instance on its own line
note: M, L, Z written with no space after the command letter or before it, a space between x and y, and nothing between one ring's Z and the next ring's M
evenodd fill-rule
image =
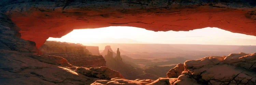
M43 54L58 54L58 53L86 53L91 54L85 46L81 44L66 43L59 41L46 41L39 50Z

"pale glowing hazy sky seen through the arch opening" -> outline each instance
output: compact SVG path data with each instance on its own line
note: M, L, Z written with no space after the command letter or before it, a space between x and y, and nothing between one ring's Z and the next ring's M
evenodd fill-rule
M208 44L256 45L256 36L232 33L218 28L192 31L154 32L136 27L105 27L73 30L61 38L47 40L70 43L140 43L140 44Z

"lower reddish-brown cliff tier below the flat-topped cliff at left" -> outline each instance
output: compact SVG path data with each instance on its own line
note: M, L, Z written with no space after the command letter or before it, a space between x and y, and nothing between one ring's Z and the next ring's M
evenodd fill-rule
M106 61L102 55L88 55L86 53L61 53L52 54L63 57L74 66L78 67L100 67L106 66Z

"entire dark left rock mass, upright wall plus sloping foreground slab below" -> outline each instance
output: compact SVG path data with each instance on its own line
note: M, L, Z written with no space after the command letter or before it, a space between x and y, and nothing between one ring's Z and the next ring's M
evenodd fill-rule
M35 55L39 53L35 43L19 38L18 31L10 19L0 14L1 85L89 85L96 80L124 78L107 67L76 67L63 57Z

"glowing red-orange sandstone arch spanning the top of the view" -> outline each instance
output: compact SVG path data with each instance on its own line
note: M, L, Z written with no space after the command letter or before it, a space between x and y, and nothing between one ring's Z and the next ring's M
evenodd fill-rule
M5 5L0 11L20 28L22 38L34 41L38 48L48 37L61 37L73 29L109 26L131 26L152 31L217 27L256 36L256 7L250 0L20 0L0 4Z

